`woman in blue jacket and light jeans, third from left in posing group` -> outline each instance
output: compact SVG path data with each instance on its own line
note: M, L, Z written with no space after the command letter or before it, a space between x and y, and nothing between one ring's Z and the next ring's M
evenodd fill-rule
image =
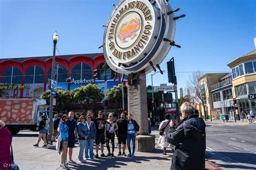
M83 159L84 155L84 148L85 148L85 140L88 137L89 130L85 123L85 116L81 115L78 118L77 124L77 131L78 131L78 141L79 141L79 154L78 154L78 163L83 163L85 160Z

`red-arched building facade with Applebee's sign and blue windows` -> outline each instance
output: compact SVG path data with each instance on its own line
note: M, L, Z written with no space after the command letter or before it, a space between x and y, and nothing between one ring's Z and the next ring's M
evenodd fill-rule
M105 63L103 53L56 56L57 89L73 90L92 83L104 91L104 79L93 78L93 70L101 63ZM41 97L48 90L51 66L52 56L0 59L0 98ZM107 89L120 83L120 74L116 81L110 79L110 74L106 69Z

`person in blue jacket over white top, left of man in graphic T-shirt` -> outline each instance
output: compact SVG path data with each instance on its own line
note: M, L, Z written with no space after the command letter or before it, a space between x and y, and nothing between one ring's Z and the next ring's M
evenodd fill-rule
M95 123L91 120L92 116L90 114L86 115L86 126L88 128L89 134L85 140L85 159L88 159L88 151L90 150L90 159L93 160L93 142L96 137L96 126Z

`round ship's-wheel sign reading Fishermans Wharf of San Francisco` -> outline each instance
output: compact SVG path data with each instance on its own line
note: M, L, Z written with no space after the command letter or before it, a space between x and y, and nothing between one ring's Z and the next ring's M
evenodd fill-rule
M149 73L160 70L171 46L180 47L173 41L176 20L167 0L122 0L113 5L107 21L103 50L107 65L123 74L144 70Z

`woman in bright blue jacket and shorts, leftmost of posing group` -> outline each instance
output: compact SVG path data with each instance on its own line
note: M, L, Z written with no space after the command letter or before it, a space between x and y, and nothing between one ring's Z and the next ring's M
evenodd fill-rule
M61 165L63 169L68 169L69 166L66 164L66 155L68 153L68 138L69 138L69 126L66 125L68 121L68 115L64 114L59 124L59 135L62 137L62 161Z

